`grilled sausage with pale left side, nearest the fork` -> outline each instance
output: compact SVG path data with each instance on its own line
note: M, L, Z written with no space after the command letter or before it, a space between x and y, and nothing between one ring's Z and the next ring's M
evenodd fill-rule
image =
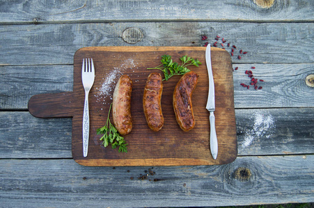
M131 117L132 80L127 75L120 76L113 92L113 125L120 135L127 135L132 130Z

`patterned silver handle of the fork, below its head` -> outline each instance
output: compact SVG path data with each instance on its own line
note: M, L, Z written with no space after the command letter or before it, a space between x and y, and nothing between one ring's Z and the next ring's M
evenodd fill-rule
M83 155L87 157L88 140L89 140L89 110L88 110L88 94L85 92L84 114L83 114Z

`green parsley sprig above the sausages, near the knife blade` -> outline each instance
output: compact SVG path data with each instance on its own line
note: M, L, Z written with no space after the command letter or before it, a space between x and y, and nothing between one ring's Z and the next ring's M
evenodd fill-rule
M198 67L199 64L202 64L199 60L191 58L187 55L184 55L180 58L182 64L178 64L177 62L173 62L171 55L162 55L162 64L154 68L147 68L147 69L159 69L164 72L164 79L168 80L173 75L182 75L190 70L187 69L188 66L194 65Z

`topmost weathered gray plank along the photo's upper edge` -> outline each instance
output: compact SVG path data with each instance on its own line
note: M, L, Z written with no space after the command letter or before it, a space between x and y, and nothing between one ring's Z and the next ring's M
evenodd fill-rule
M39 1L0 2L2 23L60 21L311 21L313 1Z

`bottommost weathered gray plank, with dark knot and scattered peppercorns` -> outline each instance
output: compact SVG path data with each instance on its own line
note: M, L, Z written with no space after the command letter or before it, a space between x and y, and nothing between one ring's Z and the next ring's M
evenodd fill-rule
M137 177L148 174L148 167L86 167L72 159L1 159L0 166L3 207L214 207L314 200L313 155L159 166L147 180Z

